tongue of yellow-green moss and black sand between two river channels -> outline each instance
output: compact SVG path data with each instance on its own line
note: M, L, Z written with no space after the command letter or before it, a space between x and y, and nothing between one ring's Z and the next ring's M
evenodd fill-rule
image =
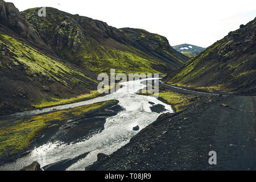
M3 120L0 123L0 165L27 155L32 148L47 142L78 142L82 137L104 130L106 117L121 110L117 100L110 100Z

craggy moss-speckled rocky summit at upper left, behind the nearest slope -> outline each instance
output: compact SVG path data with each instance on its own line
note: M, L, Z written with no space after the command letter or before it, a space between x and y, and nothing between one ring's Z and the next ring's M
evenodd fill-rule
M39 9L39 7L28 9L22 12L22 15L53 50L60 51L65 46L69 48L80 46L85 41L81 27L71 14L47 7L47 16L40 17L37 15ZM64 42L60 47L49 43L52 41L57 42L61 39Z

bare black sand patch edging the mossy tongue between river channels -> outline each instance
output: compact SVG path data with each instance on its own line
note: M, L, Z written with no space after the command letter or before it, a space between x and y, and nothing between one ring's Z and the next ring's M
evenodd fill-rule
M111 117L122 111L119 105L107 104L99 109L86 113L84 118L77 118L67 123L52 126L43 137L34 140L35 146L40 146L48 141L59 140L65 143L80 142L80 139L90 138L93 134L104 130L106 117Z

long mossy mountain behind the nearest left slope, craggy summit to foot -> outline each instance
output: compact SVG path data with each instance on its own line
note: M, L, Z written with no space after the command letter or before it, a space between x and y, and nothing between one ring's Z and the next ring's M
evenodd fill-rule
M163 36L133 28L117 29L105 22L71 15L51 7L22 12L42 40L64 59L93 72L162 72L188 60Z

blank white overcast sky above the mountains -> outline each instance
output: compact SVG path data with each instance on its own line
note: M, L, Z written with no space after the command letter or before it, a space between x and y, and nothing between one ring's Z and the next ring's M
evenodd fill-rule
M256 16L255 0L5 0L20 10L55 7L110 26L143 28L166 36L171 46L208 47Z

